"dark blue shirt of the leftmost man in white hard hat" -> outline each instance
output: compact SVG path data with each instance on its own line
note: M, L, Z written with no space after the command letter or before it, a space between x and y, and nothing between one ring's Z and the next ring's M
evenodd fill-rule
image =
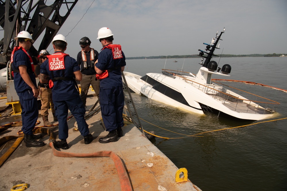
M34 63L34 64L36 64L36 63ZM30 69L27 72L30 76L31 81L33 82L35 87L37 87L36 77L35 77L34 72L32 71L30 59L29 59L28 55L24 51L22 51L21 49L14 52L13 64L12 64L13 70L16 70L16 69L19 70L18 67L20 65L27 66L27 70ZM21 77L19 72L14 72L14 86L15 86L15 90L17 93L23 92L26 89L32 90L32 88L30 88L30 86L28 86L28 84L26 84L26 82L23 80L23 78Z

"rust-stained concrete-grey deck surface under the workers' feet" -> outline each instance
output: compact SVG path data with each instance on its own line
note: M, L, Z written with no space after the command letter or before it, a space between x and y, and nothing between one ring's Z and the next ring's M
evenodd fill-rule
M4 95L5 96L5 95ZM87 109L92 107L97 97L87 98ZM0 100L0 107L6 106L5 99ZM70 116L70 113L69 115ZM97 151L113 151L124 163L127 170L132 189L141 190L200 190L188 180L183 183L175 182L175 175L178 167L172 163L159 149L154 146L133 124L123 128L124 136L117 142L101 144L100 137L107 134L100 120L101 113L89 119L90 133L93 135L93 142L86 145L80 132L74 130L75 118L68 120L70 153L94 153ZM39 121L37 126L43 125L39 110ZM49 121L53 120L49 112ZM1 118L1 125L21 121L21 116ZM54 122L53 124L57 124ZM22 126L8 128L0 133L0 138L14 135L21 130ZM54 135L57 136L58 128L51 127ZM43 134L45 146L38 148L27 148L22 142L16 151L7 159L0 168L0 190L10 190L14 185L28 183L26 190L121 190L120 182L115 164L109 157L95 158L64 158L56 157L49 146L49 136ZM56 139L58 140L58 139ZM1 145L1 156L14 143L11 140ZM61 149L56 148L61 151ZM0 156L0 157L1 157Z

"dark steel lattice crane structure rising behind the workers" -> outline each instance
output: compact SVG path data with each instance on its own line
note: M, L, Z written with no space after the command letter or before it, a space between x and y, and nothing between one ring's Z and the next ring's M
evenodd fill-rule
M38 0L34 5L33 0L18 0L18 4L17 1L0 0L0 26L4 29L4 38L0 42L0 63L6 64L11 59L11 50L16 43L14 37L21 30L30 32L35 41L45 31L38 51L47 49L77 2L78 0L55 0L48 6L45 5L45 0ZM64 16L60 15L60 10L61 13L64 12ZM38 55L34 47L30 52L34 56Z

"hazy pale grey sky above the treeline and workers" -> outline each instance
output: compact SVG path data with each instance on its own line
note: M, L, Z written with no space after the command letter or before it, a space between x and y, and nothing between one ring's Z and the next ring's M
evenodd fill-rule
M287 53L287 0L93 1L79 0L58 32L66 36L93 3L66 37L72 57L84 36L100 51L101 27L112 30L126 57L198 54L224 27L216 54Z

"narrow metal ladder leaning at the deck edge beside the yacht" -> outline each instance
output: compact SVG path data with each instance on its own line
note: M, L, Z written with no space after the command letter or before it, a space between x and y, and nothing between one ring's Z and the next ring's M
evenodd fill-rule
M128 88L128 84L126 82L124 72L122 72L122 78L124 80L124 84L123 84L124 98L126 102L126 107L128 108L128 112L130 113L130 118L132 119L133 124L137 128L140 128L142 130L142 134L145 135L142 125L140 124L140 119L138 118L138 113L136 112L134 101L132 100L132 95L130 94L130 89Z

